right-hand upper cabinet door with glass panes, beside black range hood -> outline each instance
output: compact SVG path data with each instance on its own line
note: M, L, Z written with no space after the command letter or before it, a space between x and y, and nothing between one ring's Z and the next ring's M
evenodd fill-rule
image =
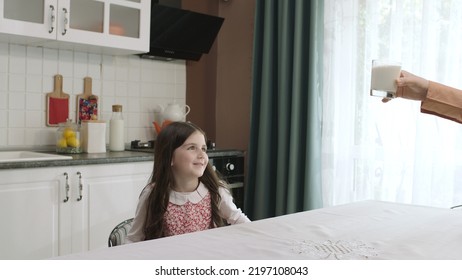
M149 0L62 0L59 5L57 43L71 42L80 50L149 51Z

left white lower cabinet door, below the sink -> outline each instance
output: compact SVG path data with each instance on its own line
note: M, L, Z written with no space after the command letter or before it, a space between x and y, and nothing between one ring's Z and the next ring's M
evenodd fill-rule
M59 180L53 169L0 170L0 259L59 255Z

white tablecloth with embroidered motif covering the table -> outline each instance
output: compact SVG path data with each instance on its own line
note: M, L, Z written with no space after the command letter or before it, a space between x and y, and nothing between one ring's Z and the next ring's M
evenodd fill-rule
M462 210L362 201L62 258L462 260Z

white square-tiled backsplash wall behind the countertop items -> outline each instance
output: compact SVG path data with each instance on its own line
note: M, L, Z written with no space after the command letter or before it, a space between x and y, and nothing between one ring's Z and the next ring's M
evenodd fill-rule
M109 120L112 105L122 104L125 141L155 138L152 121L159 105L185 103L184 61L140 59L0 43L0 149L54 145L56 127L46 126L46 93L53 77L63 76L76 119L76 96L90 76L99 97L99 119ZM108 139L106 139L108 142Z

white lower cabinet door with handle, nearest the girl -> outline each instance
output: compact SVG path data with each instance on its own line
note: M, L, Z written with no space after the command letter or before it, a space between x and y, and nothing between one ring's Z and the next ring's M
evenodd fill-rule
M62 203L59 255L108 246L111 230L135 215L152 162L76 166L67 170L70 196ZM61 177L62 189L65 180Z

